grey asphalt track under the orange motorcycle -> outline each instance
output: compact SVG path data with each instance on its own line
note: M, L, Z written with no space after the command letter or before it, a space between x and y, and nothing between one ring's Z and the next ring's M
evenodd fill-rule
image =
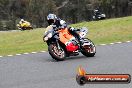
M0 88L132 88L129 84L86 84L75 76L79 65L87 73L132 75L132 42L97 46L95 57L83 55L56 62L48 53L0 58Z

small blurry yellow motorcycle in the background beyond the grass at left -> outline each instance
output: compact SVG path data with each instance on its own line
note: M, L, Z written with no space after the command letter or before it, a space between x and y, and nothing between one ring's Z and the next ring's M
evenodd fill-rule
M17 27L21 31L32 30L33 29L33 27L31 26L30 22L25 22L25 23L22 23L22 24L17 24Z

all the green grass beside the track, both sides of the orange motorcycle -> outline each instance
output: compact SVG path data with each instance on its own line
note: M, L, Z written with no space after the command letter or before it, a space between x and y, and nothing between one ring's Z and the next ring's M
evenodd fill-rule
M96 45L132 40L132 17L82 22L71 25L88 27L90 38ZM42 37L45 29L30 31L0 32L0 55L47 50Z

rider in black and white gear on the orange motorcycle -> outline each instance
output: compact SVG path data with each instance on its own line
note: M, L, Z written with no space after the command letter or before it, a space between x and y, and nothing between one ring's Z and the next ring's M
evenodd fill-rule
M62 29L62 28L68 28L68 31L76 37L80 42L82 41L81 37L77 33L79 29L75 29L73 27L68 27L66 22L64 20L61 20L60 18L57 18L55 14L49 14L47 16L47 22L49 25L54 25L54 28Z

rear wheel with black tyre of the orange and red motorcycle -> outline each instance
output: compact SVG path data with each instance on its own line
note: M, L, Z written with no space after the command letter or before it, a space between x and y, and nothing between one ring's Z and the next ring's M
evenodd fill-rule
M90 39L84 39L84 40L87 41L88 44L82 46L81 53L86 57L94 57L96 53L96 47L94 43Z

